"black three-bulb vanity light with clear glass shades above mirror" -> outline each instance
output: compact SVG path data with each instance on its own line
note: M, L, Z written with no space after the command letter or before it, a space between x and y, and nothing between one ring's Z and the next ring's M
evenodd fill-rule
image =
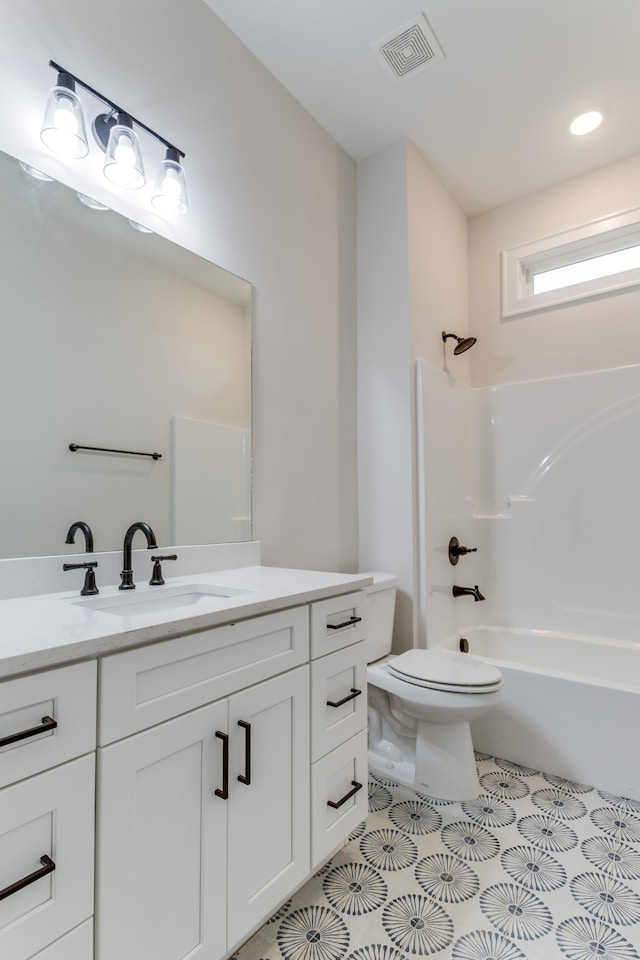
M185 214L188 203L182 150L53 60L49 61L49 66L58 71L58 80L47 101L40 134L43 143L66 157L87 155L89 145L82 105L75 92L76 85L82 87L109 108L108 112L99 113L92 123L96 143L105 154L103 172L107 180L126 190L144 186L146 176L135 129L138 127L163 144L166 150L151 198L153 206L166 216Z

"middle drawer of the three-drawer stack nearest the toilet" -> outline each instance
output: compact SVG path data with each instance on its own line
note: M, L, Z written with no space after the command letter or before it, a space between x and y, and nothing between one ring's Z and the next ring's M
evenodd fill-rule
M366 644L354 643L311 663L311 759L367 725Z

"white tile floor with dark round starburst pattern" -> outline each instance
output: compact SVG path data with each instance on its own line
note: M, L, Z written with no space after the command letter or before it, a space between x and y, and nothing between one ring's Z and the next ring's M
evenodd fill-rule
M367 820L237 960L640 960L640 803L477 764L468 803L372 777Z

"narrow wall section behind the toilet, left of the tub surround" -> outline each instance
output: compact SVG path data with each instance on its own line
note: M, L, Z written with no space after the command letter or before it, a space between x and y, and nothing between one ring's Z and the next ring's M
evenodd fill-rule
M360 569L398 577L394 648L413 634L406 146L358 166Z

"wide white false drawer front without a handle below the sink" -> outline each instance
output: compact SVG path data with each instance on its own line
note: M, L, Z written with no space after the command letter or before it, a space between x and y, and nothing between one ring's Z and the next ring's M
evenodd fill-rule
M104 746L306 663L308 608L293 607L100 661Z

